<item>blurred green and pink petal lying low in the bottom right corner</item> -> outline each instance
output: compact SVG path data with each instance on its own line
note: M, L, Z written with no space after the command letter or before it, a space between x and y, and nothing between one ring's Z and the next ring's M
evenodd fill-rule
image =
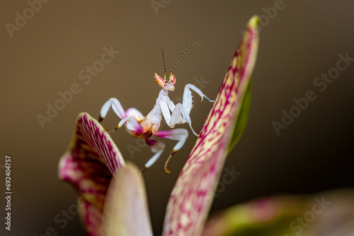
M352 236L353 199L354 189L257 199L228 208L210 218L202 236Z

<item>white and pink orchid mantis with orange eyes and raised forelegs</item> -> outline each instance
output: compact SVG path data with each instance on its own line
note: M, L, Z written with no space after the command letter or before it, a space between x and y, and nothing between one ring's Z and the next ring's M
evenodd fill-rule
M193 43L193 45L196 44L198 43ZM192 47L193 45L190 45L190 47ZM188 49L190 49L190 47L188 47ZM185 52L187 52L188 49L186 49ZM178 61L183 57L185 52L178 59ZM164 57L164 51L162 51L162 57ZM176 64L178 63L178 61L176 62ZM115 130L119 129L120 126L125 124L127 131L132 134L132 136L135 136L137 138L145 138L145 142L148 146L150 146L154 155L147 161L142 171L152 166L155 161L160 157L165 148L165 144L161 141L156 141L152 139L152 135L178 141L178 143L176 143L176 146L173 147L173 150L171 151L171 154L169 155L169 158L167 159L165 164L165 170L168 173L170 173L170 171L167 169L167 165L171 156L182 148L185 143L185 140L188 137L188 131L186 129L171 129L159 131L162 117L164 117L166 123L171 128L173 128L175 124L188 123L190 129L193 131L193 134L195 134L195 136L198 136L198 134L196 134L193 130L192 122L190 120L190 110L193 107L191 90L195 91L195 93L198 93L198 95L200 95L202 99L207 98L207 96L205 96L199 88L195 87L195 85L188 83L187 85L185 85L184 88L182 103L178 103L175 105L170 100L169 91L173 91L175 89L174 85L176 83L176 78L175 76L173 76L172 71L176 64L171 69L169 80L166 80L166 66L164 79L158 76L157 73L155 73L155 81L161 87L161 91L159 93L159 98L156 99L156 104L154 105L154 108L151 112L149 112L149 114L147 114L146 117L144 117L144 115L134 107L124 110L122 105L120 105L120 102L116 98L110 98L110 100L105 102L105 104L101 108L99 117L100 122L105 118L105 115L108 113L110 107L112 107L115 114L117 114L118 117L121 119ZM207 98L207 100L209 100L210 102L214 102L209 98Z

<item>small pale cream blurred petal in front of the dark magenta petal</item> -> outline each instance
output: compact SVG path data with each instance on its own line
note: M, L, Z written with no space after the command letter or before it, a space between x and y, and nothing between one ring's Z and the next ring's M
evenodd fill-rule
M153 235L142 173L132 163L110 182L102 230L105 236Z

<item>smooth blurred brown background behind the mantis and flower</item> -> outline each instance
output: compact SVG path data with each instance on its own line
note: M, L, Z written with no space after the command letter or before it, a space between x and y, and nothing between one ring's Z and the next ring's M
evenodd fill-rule
M276 15L267 10L275 1L268 0L155 2L164 7L155 11L150 1L48 1L40 9L33 5L38 12L31 12L26 1L1 1L0 165L11 156L13 218L11 232L5 232L1 220L0 235L39 236L49 227L58 235L84 235L77 216L65 226L54 220L76 201L74 189L57 179L57 164L79 112L98 117L103 103L115 97L125 109L137 107L147 114L160 90L154 72L164 73L159 49L164 48L169 71L193 42L202 46L193 47L174 70L176 91L170 98L179 102L186 83L215 98L253 14L263 16L263 26L249 122L225 165L241 175L219 192L212 213L258 196L353 187L354 61L323 92L314 81L336 67L338 54L354 57L354 1L285 0ZM27 22L17 20L22 26L16 28L16 12L23 16L23 11ZM81 80L79 73L111 46L120 54L91 81ZM54 105L58 93L74 83L80 93L42 129L38 114L46 116L47 103ZM277 136L272 122L281 122L282 110L289 112L293 99L309 90L316 100ZM200 103L195 95L194 104L191 118L199 132L210 103ZM118 117L109 112L103 124L114 127ZM155 235L161 233L169 193L196 140L189 133L170 162L171 175L164 172L164 162L176 142L168 140L164 155L144 173ZM141 167L152 156L124 130L112 136L126 160Z

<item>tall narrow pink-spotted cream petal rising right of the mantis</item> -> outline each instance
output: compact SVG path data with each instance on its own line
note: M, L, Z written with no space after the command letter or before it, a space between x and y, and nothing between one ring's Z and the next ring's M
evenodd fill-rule
M253 16L173 188L166 208L164 236L198 236L202 232L256 61L257 25L258 16Z

